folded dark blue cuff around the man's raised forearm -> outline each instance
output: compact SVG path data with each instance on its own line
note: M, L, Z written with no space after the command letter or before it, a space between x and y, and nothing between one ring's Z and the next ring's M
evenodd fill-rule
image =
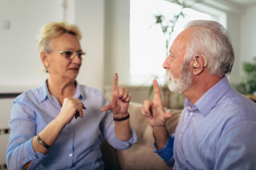
M154 143L154 153L157 153L161 159L164 161L170 160L173 157L173 143L174 143L174 138L170 135L169 140L167 141L166 145L161 149L157 150L156 148L156 142Z

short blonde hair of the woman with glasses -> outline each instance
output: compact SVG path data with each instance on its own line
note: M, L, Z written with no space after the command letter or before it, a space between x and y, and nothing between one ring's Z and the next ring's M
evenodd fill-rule
M38 36L38 50L44 52L51 52L51 39L63 33L69 33L76 36L80 41L82 38L82 32L79 30L79 27L74 24L68 24L67 22L50 22L45 24L40 29L40 34Z

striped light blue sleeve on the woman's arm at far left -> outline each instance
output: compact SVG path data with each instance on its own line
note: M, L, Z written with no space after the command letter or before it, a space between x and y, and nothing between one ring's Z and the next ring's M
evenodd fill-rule
M34 111L24 104L13 102L12 120L9 123L11 135L6 151L8 169L22 169L31 161L29 169L35 169L47 157L43 153L35 153L32 138L36 135Z

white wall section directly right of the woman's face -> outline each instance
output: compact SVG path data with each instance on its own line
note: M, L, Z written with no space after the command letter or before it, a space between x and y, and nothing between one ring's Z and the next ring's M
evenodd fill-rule
M103 90L104 0L76 0L75 22L83 32L86 58L77 77L79 83Z

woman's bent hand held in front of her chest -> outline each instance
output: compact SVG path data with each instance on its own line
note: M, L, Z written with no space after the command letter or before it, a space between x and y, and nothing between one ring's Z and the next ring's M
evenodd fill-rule
M74 117L83 118L84 104L77 98L65 98L60 110L60 114L56 117L63 127L69 124Z

